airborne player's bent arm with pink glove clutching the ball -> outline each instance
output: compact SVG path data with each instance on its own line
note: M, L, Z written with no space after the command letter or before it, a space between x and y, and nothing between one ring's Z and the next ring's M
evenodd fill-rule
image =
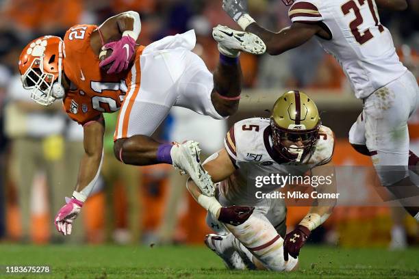
M112 64L110 69L107 70L108 74L127 70L129 63L134 57L136 40L140 35L140 31L141 21L138 12L123 12L122 14L107 18L98 27L98 30L94 32L94 36L101 36L101 41L108 42L103 48L112 49L112 55L104 59L99 66L105 67L108 64ZM114 40L114 38L120 38L120 40L109 42L110 40ZM92 48L99 55L102 45L92 46Z

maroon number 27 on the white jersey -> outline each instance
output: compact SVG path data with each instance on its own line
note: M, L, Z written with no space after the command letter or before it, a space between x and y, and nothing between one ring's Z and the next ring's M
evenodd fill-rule
M377 15L377 12L374 8L374 3L372 1L374 0L351 0L344 3L341 6L341 10L344 16L347 16L348 14L352 13L355 14L355 19L351 21L351 23L349 23L349 28L351 28L351 33L355 37L355 40L359 42L359 44L365 44L366 42L374 38L370 29L366 29L364 31L364 34L361 34L361 32L359 31L359 25L364 23L364 18L362 18L359 8L361 8L361 6L365 5L366 3L368 3L368 8L370 8L371 16L375 22L375 26L378 27L380 33L384 31L384 27L379 22L379 16ZM356 2L358 2L359 5Z

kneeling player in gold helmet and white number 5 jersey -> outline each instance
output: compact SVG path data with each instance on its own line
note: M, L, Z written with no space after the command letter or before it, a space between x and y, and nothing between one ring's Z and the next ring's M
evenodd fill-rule
M278 98L269 119L250 118L234 124L224 143L225 147L203 164L218 183L216 196L204 196L193 181L188 181L192 196L208 211L207 224L217 232L227 228L227 235L207 235L205 243L231 269L242 269L244 264L253 269L294 269L301 247L312 230L327 220L336 200L317 200L285 236L284 199L263 198L254 191L272 193L279 186L267 183L256 188L255 181L271 174L301 176L307 172L333 177L333 132L322 126L314 101L294 90ZM317 187L317 191L335 192L334 181ZM255 209L238 226L217 222L219 209L232 204Z

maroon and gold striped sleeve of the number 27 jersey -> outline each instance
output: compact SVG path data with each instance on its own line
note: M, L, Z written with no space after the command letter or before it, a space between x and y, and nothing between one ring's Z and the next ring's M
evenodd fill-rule
M316 5L308 1L295 2L288 11L288 16L293 23L316 23L323 20Z

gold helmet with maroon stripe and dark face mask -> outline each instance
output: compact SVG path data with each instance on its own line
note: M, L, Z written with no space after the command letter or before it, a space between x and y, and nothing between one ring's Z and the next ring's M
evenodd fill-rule
M316 104L306 94L286 92L275 102L270 117L275 150L288 161L303 161L314 151L320 124Z

